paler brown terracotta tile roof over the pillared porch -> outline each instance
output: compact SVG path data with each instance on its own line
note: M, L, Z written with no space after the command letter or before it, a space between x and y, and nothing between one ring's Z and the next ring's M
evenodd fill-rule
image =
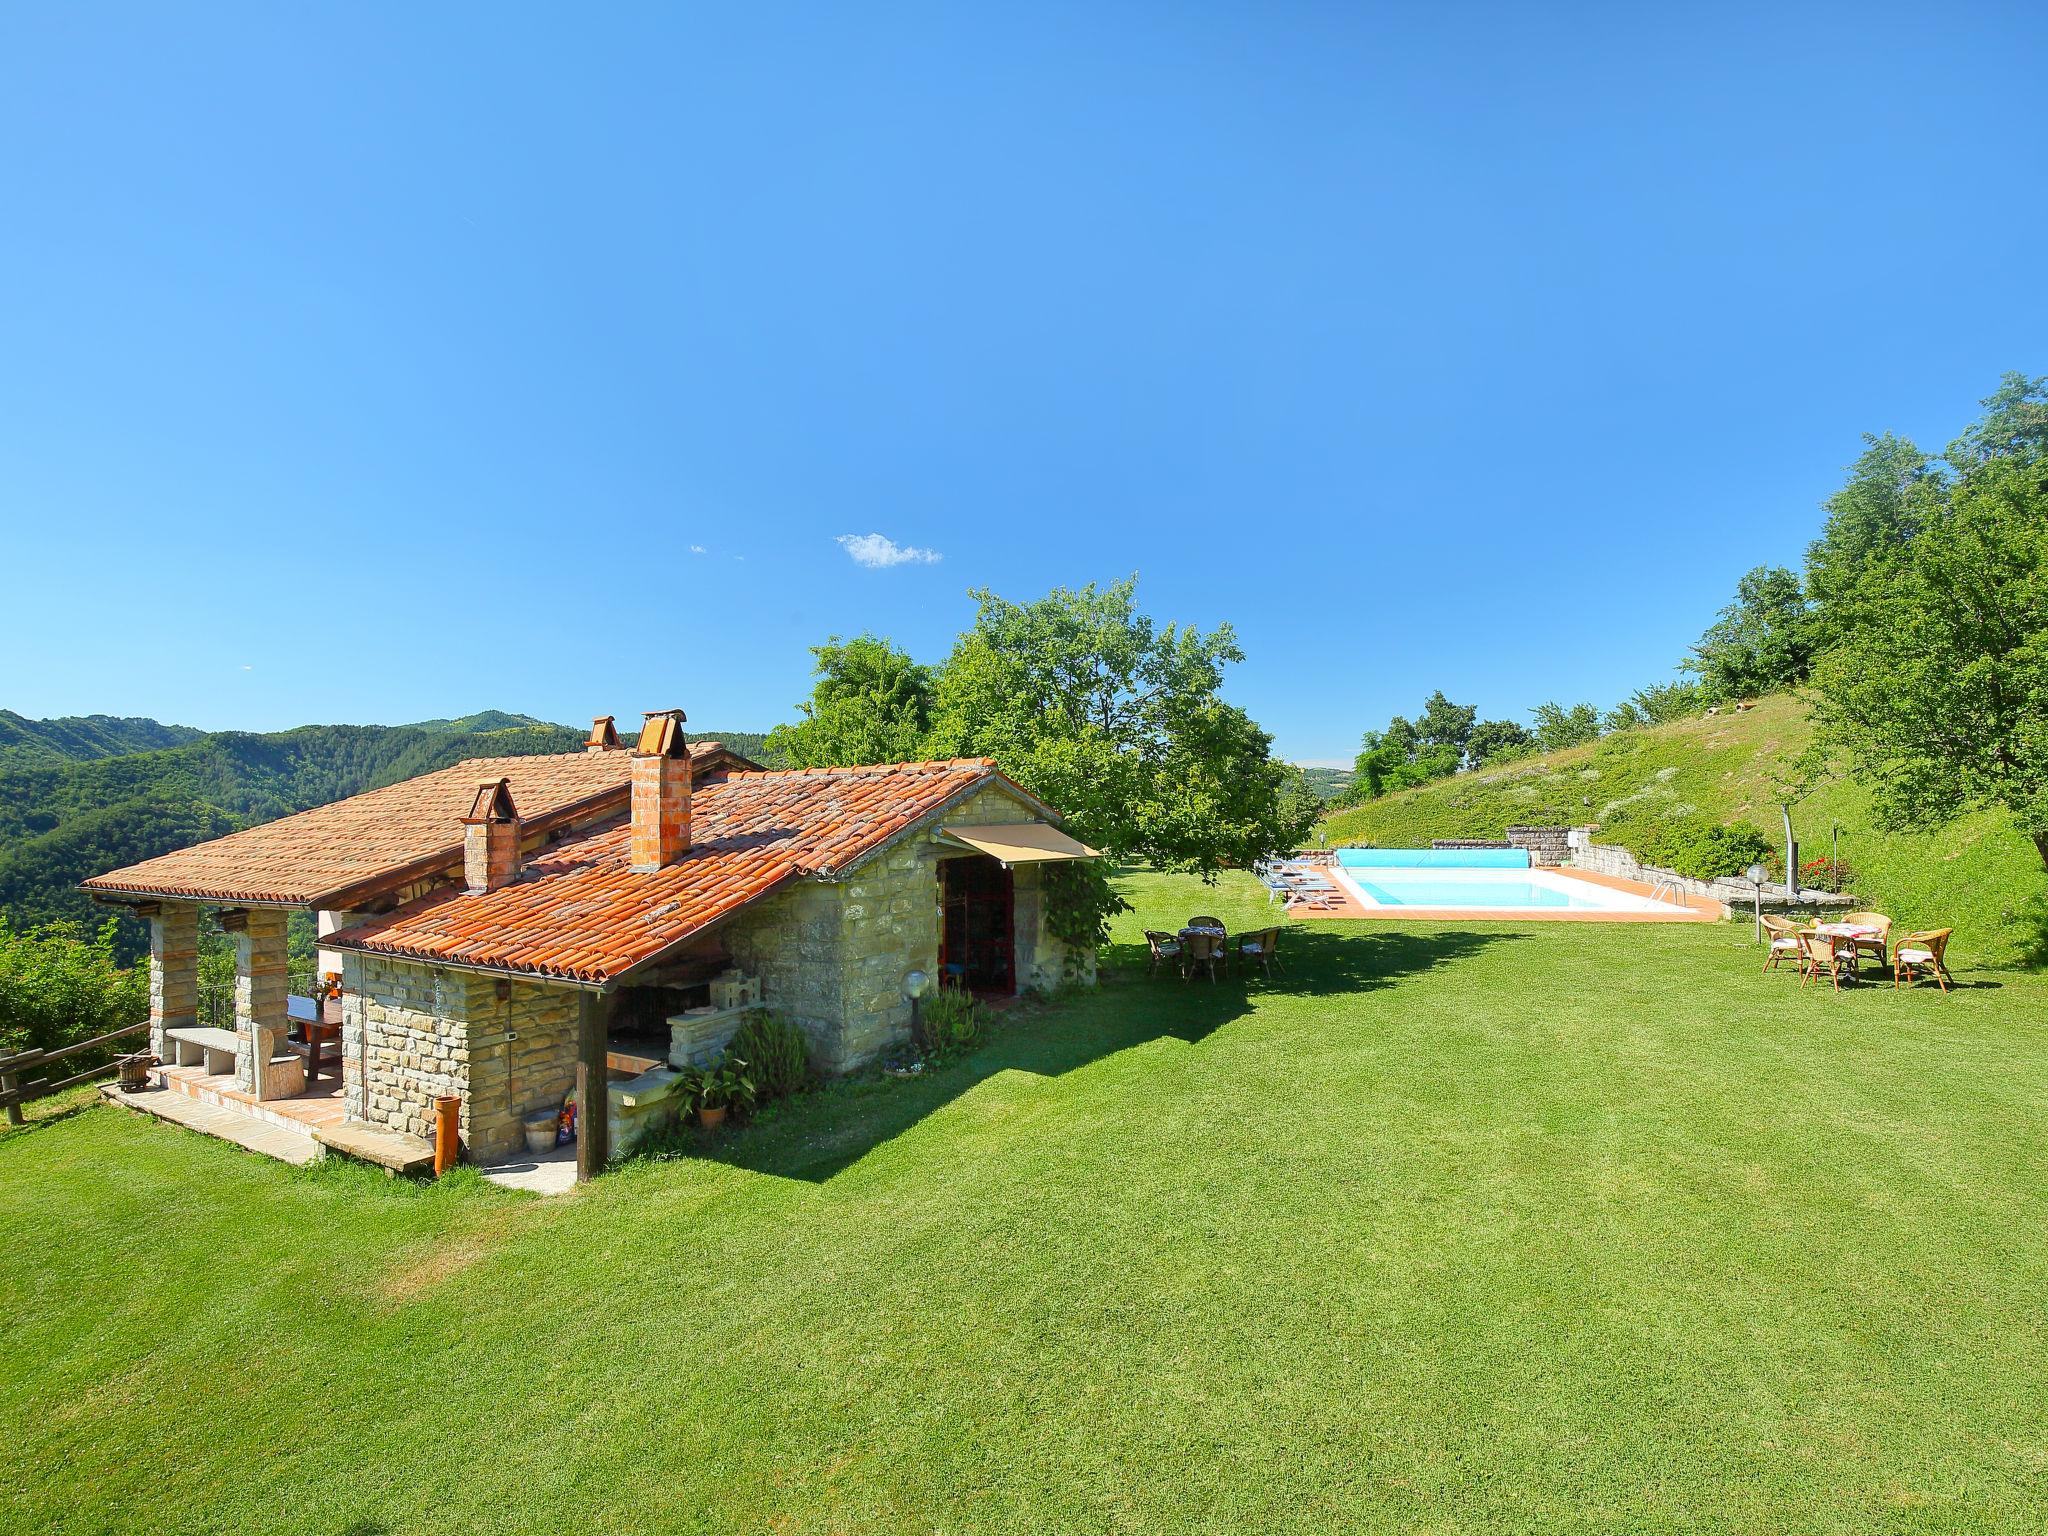
M725 768L737 758L717 741L692 741L692 762L698 756L711 768ZM340 897L360 901L379 889L461 862L459 817L485 778L506 778L526 827L545 831L623 809L631 754L471 758L403 784L373 788L195 848L145 858L98 874L84 889L313 907L344 905Z

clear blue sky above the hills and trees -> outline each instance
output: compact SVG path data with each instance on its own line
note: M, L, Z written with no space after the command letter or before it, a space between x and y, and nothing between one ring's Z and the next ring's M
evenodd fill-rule
M2042 6L16 4L0 705L766 727L1128 571L1288 756L1610 702L2048 371L2042 78Z

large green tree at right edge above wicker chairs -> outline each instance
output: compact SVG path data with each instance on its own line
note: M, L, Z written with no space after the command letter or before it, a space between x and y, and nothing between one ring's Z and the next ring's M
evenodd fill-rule
M1985 459L1866 573L1817 694L1886 823L2003 805L2048 866L2048 461Z

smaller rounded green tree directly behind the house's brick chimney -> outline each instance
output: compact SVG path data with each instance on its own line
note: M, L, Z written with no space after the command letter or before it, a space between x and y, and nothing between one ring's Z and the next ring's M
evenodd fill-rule
M813 645L817 657L803 719L768 733L791 768L915 762L932 756L932 670L874 635Z

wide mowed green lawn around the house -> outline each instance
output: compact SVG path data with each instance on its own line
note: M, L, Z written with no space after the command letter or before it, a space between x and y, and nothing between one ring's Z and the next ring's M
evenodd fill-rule
M1300 926L561 1200L0 1141L12 1530L2038 1530L2048 985Z

